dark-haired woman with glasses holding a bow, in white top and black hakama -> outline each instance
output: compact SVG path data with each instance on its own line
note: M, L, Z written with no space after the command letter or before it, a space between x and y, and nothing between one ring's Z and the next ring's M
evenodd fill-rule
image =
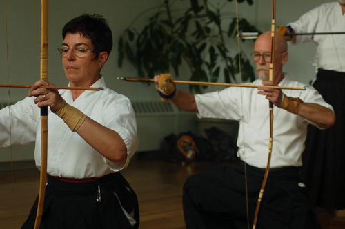
M106 88L100 74L112 48L112 33L99 15L83 14L63 28L58 48L69 86L100 92L50 90L33 84L11 106L12 142L36 142L39 168L39 107L48 106L48 184L41 228L137 228L137 197L122 170L137 148L137 124L128 98ZM8 118L1 110L1 122ZM13 124L14 123L14 124ZM8 138L8 136L7 136ZM2 146L6 146L6 141ZM32 228L37 200L23 228Z

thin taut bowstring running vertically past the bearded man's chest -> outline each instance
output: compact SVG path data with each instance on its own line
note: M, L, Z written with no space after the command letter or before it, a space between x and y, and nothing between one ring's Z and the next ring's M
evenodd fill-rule
M237 25L237 49L238 49L238 61L239 61L239 83L242 84L242 66L241 66L241 42L239 40L239 16L238 16L238 2L235 1L236 6L236 25ZM244 157L244 185L246 189L246 215L247 215L247 228L249 229L249 206L248 206L248 180L247 180L247 166L246 166L246 145L244 143L244 110L243 110L243 94L242 94L242 88L240 88L241 91L241 119L242 119L242 145L243 145L243 157Z

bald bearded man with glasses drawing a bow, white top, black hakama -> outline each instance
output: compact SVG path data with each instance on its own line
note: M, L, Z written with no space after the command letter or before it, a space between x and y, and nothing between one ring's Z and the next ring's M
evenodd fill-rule
M275 72L268 81L271 32L255 41L252 54L259 79L251 84L259 88L235 88L206 94L177 90L170 74L154 77L159 95L198 117L239 121L237 155L244 166L216 166L188 177L184 184L186 228L247 228L248 213L253 223L255 206L267 164L269 142L268 101L274 104L273 152L270 174L262 199L257 228L319 228L317 217L308 204L304 183L299 177L308 124L329 128L335 122L332 106L312 86L292 81L283 72L288 46L277 34ZM282 90L269 85L305 87L306 90ZM245 186L245 173L248 192Z

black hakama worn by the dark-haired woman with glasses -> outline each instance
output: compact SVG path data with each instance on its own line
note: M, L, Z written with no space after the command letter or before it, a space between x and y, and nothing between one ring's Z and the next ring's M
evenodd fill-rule
M97 202L98 190L101 191L100 202ZM23 229L34 228L37 201L38 198ZM135 226L130 225L122 208L135 215ZM119 172L88 183L66 183L48 175L41 229L129 229L138 226L137 195Z

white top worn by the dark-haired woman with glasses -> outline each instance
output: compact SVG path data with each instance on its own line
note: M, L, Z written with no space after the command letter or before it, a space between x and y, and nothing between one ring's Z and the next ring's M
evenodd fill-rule
M52 176L86 178L101 177L117 172L126 166L137 149L137 123L132 105L127 97L106 88L101 77L92 87L102 91L84 91L75 101L70 90L59 90L63 99L103 126L116 131L127 147L127 161L115 165L77 132L72 132L63 120L48 108L48 168ZM0 110L0 147L10 146L9 110L11 114L12 143L23 145L35 142L34 159L41 166L40 110L34 97L26 97L15 105Z

